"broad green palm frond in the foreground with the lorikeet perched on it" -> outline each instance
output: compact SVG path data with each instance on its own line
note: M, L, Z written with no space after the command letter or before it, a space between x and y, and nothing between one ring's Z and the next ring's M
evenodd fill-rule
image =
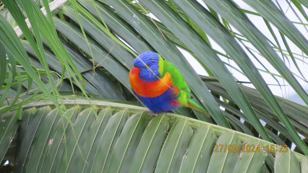
M12 139L2 140L0 146L21 141L14 168L18 172L259 172L265 169L266 155L271 154L266 145L272 143L172 113L151 120L151 113L143 107L93 100L93 110L87 100L64 103L75 134L65 119L59 119L58 109L47 106L50 102L26 105L23 114L31 121L17 122L16 111L1 115L6 121L0 125L12 131L1 131L1 135ZM18 124L24 128L24 136L18 133L14 137ZM248 149L252 145L260 151ZM247 152L250 150L255 152ZM287 150L276 152L275 171L299 170L299 164L306 164L305 159L301 161L303 155Z

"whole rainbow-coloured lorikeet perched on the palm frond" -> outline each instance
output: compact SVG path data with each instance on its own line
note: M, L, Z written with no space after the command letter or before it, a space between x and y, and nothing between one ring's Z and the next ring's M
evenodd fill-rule
M171 62L151 51L141 53L138 57L134 59L134 66L129 72L129 81L134 94L153 112L153 116L180 106L206 113L191 100L190 88Z

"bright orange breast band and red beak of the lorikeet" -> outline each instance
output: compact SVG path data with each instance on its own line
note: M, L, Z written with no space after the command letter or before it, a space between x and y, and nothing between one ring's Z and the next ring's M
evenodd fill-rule
M166 72L164 77L156 81L144 81L139 77L140 70L132 67L129 72L129 82L137 95L142 97L157 97L163 94L172 84L171 75Z

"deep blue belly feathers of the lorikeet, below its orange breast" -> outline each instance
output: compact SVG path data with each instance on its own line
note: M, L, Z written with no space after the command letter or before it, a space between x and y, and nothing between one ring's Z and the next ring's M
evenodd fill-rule
M144 103L145 106L155 113L171 111L179 106L179 104L176 104L177 98L170 88L157 97L141 97L137 95L135 91L134 94Z

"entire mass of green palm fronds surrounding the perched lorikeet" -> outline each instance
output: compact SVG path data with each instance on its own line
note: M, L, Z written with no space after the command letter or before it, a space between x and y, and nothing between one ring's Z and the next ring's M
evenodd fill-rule
M278 1L244 1L257 12L203 1L0 2L0 172L307 172L308 107L263 79L308 103L308 44L294 26L306 27L306 1L287 3L300 22ZM128 77L148 50L180 70L211 118L183 107L151 117ZM244 152L252 145L260 151Z

